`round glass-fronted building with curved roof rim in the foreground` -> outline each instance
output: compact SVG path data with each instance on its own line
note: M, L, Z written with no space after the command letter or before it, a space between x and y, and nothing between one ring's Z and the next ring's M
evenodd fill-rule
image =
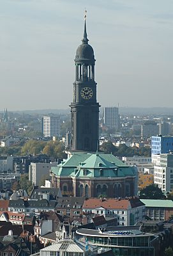
M131 228L131 229L130 229ZM133 230L132 230L133 228ZM98 247L109 247L116 256L154 256L153 234L142 233L137 226L77 230L81 241Z

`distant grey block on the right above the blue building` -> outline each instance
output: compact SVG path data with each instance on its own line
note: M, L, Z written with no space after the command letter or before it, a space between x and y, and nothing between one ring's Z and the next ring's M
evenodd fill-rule
M147 121L141 125L141 136L142 138L149 138L151 136L156 136L159 133L158 125L156 122Z

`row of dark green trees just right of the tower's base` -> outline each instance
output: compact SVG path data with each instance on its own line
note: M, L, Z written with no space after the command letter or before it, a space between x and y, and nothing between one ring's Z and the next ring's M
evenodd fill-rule
M123 157L123 156L151 156L150 147L127 147L125 144L120 144L119 147L116 147L112 144L111 141L104 142L100 147L100 150L105 152L105 154L113 154L114 156Z

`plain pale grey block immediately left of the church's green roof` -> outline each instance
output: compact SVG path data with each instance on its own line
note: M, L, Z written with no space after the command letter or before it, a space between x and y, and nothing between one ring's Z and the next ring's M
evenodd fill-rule
M57 166L57 162L31 163L29 165L29 180L31 180L34 186L39 186L41 177L43 177L43 175L49 175L52 166Z

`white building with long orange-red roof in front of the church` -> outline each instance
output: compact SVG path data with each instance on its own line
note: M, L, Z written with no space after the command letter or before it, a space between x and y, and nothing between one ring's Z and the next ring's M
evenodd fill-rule
M145 205L139 198L89 198L84 201L83 214L117 217L117 225L134 225L145 218Z

